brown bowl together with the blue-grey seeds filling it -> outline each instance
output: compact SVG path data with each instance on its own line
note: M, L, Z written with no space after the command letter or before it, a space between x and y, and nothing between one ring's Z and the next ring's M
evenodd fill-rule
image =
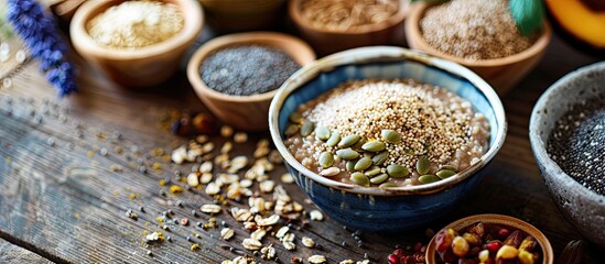
M315 59L303 41L281 33L224 35L190 59L187 78L204 105L240 130L267 129L271 98L282 82Z

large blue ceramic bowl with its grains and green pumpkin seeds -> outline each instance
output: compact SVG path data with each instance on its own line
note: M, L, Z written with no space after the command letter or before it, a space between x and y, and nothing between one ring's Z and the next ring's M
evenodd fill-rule
M401 231L455 208L506 134L471 70L400 47L341 52L296 72L269 110L299 186L346 227Z

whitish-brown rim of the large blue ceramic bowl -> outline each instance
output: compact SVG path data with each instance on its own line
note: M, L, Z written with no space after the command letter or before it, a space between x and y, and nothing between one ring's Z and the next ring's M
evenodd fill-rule
M487 98L489 105L491 106L496 121L498 123L498 129L494 136L494 144L489 150L480 157L479 162L471 165L466 169L460 172L457 175L442 179L435 183L425 184L425 185L414 185L414 186L400 186L392 188L378 188L378 187L364 187L353 184L345 184L336 182L326 177L323 177L318 174L313 173L311 169L303 166L285 147L283 144L283 139L279 131L279 112L283 106L284 100L296 89L301 88L305 82L312 80L321 73L331 70L337 66L352 65L352 64L364 64L368 62L380 62L393 59L401 61L413 61L428 66L432 66L444 70L453 76L466 79L473 86L475 86L479 91L482 91ZM473 102L472 102L473 103ZM411 51L403 47L396 46L369 46L369 47L359 47L353 48L344 52L339 52L324 58L317 59L310 65L306 65L294 73L290 78L288 78L283 85L278 89L271 106L269 108L269 131L271 133L271 139L282 155L285 163L292 166L294 169L300 172L306 178L312 179L313 182L321 184L323 186L339 189L346 193L353 193L358 195L371 195L371 196L401 196L401 195L430 195L439 193L441 190L447 189L453 185L456 185L461 182L464 182L468 177L473 176L477 170L487 165L496 153L503 146L503 143L506 138L507 131L507 121L504 111L503 103L491 86L489 86L484 79L478 75L469 70L468 68L461 66L456 63L449 62L445 59L436 58L417 51Z

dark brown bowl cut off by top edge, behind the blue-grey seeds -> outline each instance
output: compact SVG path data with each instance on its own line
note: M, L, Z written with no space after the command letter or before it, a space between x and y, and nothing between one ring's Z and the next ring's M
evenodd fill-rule
M199 0L208 24L219 32L262 30L283 18L285 0Z

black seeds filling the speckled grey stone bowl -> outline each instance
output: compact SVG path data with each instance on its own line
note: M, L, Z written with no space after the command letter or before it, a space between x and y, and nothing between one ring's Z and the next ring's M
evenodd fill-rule
M605 103L603 98L573 106L557 121L548 153L577 183L605 196Z

